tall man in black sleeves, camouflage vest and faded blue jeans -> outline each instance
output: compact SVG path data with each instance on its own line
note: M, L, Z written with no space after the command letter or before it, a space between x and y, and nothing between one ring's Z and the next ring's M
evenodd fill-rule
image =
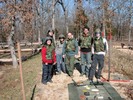
M85 27L84 32L79 40L80 54L81 54L81 75L88 77L89 69L91 67L91 46L92 37L89 34L89 28Z

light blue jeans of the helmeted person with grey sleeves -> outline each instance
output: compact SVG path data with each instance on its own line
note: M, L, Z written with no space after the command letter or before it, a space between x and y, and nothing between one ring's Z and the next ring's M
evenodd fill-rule
M62 54L56 55L56 61L57 61L57 71L61 72L61 70L66 73L65 63L63 62Z

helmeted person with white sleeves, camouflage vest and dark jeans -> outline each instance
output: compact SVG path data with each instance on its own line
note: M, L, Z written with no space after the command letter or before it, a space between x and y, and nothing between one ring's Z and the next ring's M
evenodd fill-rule
M104 56L108 51L108 43L105 38L101 36L101 30L96 29L95 38L92 44L93 62L90 69L89 80L90 84L93 83L93 76L97 78L97 82L100 83L101 72L104 67ZM97 68L98 65L98 69Z

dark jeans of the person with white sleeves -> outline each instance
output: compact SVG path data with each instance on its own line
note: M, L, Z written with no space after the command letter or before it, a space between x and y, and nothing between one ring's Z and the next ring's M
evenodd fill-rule
M96 73L97 65L98 65L98 70L97 70L96 78L100 79L101 72L102 72L102 69L104 67L104 55L94 54L92 66L91 66L91 69L90 69L90 75L89 75L89 79L91 79L91 80L93 79L93 76Z

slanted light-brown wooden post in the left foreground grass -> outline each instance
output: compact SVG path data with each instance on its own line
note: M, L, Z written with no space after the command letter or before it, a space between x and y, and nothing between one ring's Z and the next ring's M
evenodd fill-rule
M19 71L20 71L20 81L21 81L22 95L23 95L23 100L26 100L26 98L25 98L25 90L24 90L24 82L23 82L21 48L20 48L20 43L19 42L17 43L17 46L18 46Z

